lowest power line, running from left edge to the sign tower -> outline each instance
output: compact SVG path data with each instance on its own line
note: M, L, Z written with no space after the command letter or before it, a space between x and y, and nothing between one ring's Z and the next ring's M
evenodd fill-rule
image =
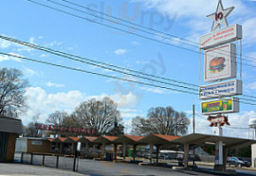
M109 76L109 75L105 75L105 74L102 74L102 73L95 73L93 71L88 71L88 70L75 69L75 68L72 68L72 67L69 67L69 66L65 66L65 65L61 65L61 64L56 64L56 63L52 63L52 62L45 62L45 61L35 60L35 59L24 57L24 56L21 56L21 55L7 54L7 53L3 53L3 52L0 52L0 55L8 55L8 56L16 57L16 58L23 59L23 60L26 60L26 61L39 62L39 63L43 63L43 64L48 64L48 65L51 65L51 66L56 66L56 67L64 68L64 69L67 69L67 70L77 70L77 71L85 72L85 73L88 73L88 74L102 76L102 77L109 77L109 78L113 78L113 79L122 80L122 81L125 81L125 82L132 82L132 83L136 83L136 84L150 85L150 86L154 86L154 87L157 87L157 88L166 89L166 90L170 90L170 91L184 92L184 93L189 93L189 94L193 94L193 95L198 95L197 93L194 93L194 92L186 92L186 91L182 91L182 90L178 90L178 89L173 89L173 88L165 87L165 86L161 86L161 85L143 83L143 82L132 80L132 79L126 79L126 78L122 78L122 77Z

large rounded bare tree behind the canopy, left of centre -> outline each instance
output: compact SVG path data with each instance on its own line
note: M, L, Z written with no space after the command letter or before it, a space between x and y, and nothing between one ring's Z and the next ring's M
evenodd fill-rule
M106 135L115 122L122 121L117 104L109 98L89 99L76 107L72 118L79 127L95 128L97 135Z

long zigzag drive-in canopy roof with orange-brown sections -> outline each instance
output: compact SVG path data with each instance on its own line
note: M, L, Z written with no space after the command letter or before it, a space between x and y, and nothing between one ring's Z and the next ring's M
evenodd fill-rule
M235 137L227 136L211 136L204 134L190 134L187 136L165 136L165 135L149 135L149 136L82 136L82 137L57 137L56 139L49 139L51 142L56 143L105 143L105 144L114 144L114 143L127 143L127 144L149 144L153 143L154 145L164 145L164 144L184 144L189 143L192 145L204 145L212 144L215 145L216 142L222 141L226 149L234 147L244 147L256 143L256 140L251 139L241 139Z

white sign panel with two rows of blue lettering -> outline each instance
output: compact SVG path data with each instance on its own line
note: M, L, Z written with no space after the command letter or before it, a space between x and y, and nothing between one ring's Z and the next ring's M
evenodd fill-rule
M215 99L219 97L242 95L242 92L242 81L236 79L219 84L200 86L200 99Z

